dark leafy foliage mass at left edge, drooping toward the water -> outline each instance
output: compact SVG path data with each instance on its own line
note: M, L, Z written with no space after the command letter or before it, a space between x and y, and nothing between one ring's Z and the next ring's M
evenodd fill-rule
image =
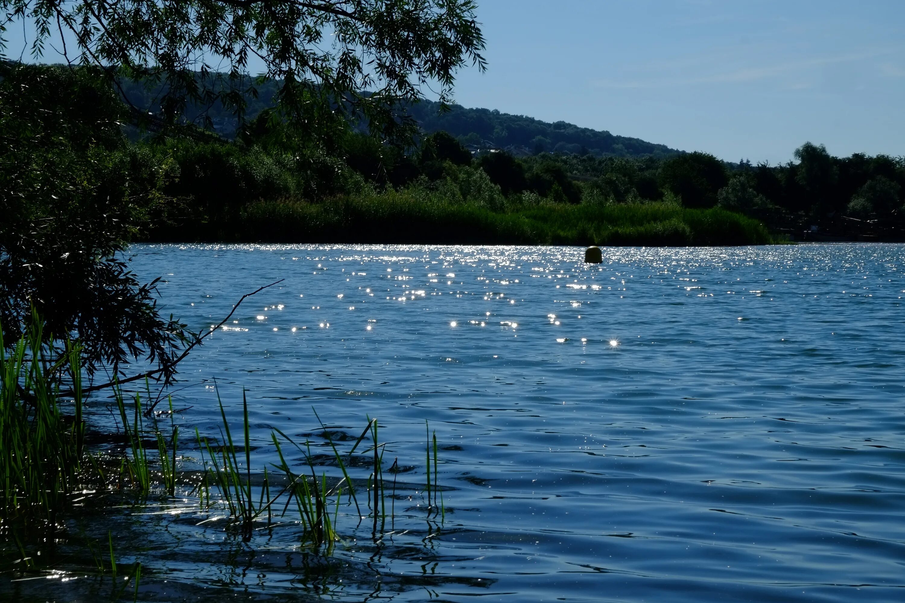
M97 70L3 64L0 325L15 341L33 309L58 352L80 340L89 372L130 359L167 366L185 325L159 316L119 253L161 201L161 174L128 146L124 108ZM173 371L167 369L165 378Z

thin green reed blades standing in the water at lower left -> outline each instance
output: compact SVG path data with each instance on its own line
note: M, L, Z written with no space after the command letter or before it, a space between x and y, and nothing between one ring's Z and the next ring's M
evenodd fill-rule
M68 497L86 484L110 492L110 487L119 492L138 495L138 504L148 495L176 496L180 483L186 479L195 482L189 495L197 495L202 511L214 508L227 513L229 524L241 528L243 539L252 538L256 523L271 524L274 516L285 516L291 507L302 526L301 543L329 554L336 542L340 541L338 522L343 501L349 507L354 505L356 522L366 516L373 521L375 542L382 536L384 522L391 517L395 522L396 474L398 458L389 467L394 474L392 490L387 492L384 475L384 456L387 443L381 441L380 425L376 419L367 418L367 426L348 450L341 450L331 436L329 429L317 418L327 446L336 460L338 471L333 475L320 468L322 457L311 452L311 442L297 442L280 429L272 429L271 442L279 462L263 466L262 473L255 473L255 479L263 477L259 485L252 485L252 437L247 394L243 391L241 436L234 438L235 430L227 419L223 400L217 391L217 400L222 419L218 441L201 436L195 429L195 441L200 454L201 471L186 474L180 471L179 444L180 429L176 425L172 399L169 404L169 426L164 429L155 415L146 418L143 412L150 400L149 388L144 396L135 393L127 402L127 394L119 387L114 388L114 400L119 411L119 419L125 438L125 448L112 471L110 461L100 459L85 449L85 422L81 405L81 363L77 344L71 344L64 360L70 365L49 366L43 348L43 331L40 321L35 320L33 328L16 344L7 348L0 334L0 486L2 486L2 523L13 519L24 523L55 526L60 522L63 507ZM59 379L50 376L60 374L61 369L71 373L73 399L58 400ZM64 413L63 409L70 410ZM313 410L313 409L312 409ZM438 447L436 433L430 437L428 426L426 445L426 493L428 514L443 512L443 493L438 482ZM370 446L365 442L370 440ZM154 444L156 441L156 451ZM149 442L150 444L146 444ZM301 453L300 472L293 468L284 454L291 447ZM353 455L367 457L369 475L359 474L353 478L350 460ZM106 470L103 468L106 466ZM116 467L115 466L115 467ZM159 468L158 468L159 467ZM361 469L357 469L361 471ZM338 475L337 475L338 474ZM110 482L106 478L110 476ZM274 477L279 476L274 480ZM367 485L366 485L367 482ZM439 507L437 493L440 493ZM367 515L364 513L362 496L367 501ZM387 496L390 508L387 509ZM95 500L105 504L106 500L121 500L119 497L96 496ZM297 512L297 515L296 515ZM343 515L345 516L345 515ZM379 529L378 529L379 528ZM20 531L21 532L21 531ZM26 532L7 531L15 542L16 550L23 561L21 567L32 567L33 560L26 554L25 541L32 538ZM24 538L20 538L24 535ZM140 579L140 564L124 570L116 561L113 548L113 533L108 533L107 545L110 550L109 563L97 554L90 541L87 546L94 559L99 574L108 572L116 579L118 573L127 579L135 579L136 592ZM101 547L102 548L102 547ZM121 576L120 576L121 579ZM128 580L127 580L128 582ZM124 588L124 587L122 587ZM120 594L122 594L120 592Z

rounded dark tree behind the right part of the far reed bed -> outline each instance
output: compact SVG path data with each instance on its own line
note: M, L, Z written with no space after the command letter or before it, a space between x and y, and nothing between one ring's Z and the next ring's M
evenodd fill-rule
M722 162L708 153L689 153L667 159L660 167L660 184L681 196L686 207L713 207L728 176Z

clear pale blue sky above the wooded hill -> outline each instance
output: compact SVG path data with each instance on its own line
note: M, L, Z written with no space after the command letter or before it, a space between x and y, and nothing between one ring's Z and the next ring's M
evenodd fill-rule
M785 162L805 141L905 155L905 0L478 4L490 69L460 73L466 107L729 161Z

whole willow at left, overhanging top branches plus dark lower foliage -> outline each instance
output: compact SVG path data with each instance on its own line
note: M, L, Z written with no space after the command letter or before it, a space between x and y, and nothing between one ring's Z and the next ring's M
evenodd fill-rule
M121 113L133 121L180 127L187 105L216 102L243 120L246 99L271 80L269 118L282 129L329 137L331 124L359 118L382 137L405 137L412 122L401 108L425 92L447 102L457 71L484 69L475 10L472 0L0 0L0 52L9 28L24 26L36 33L36 61L52 44L83 75L147 83L159 96ZM155 283L139 287L116 259L131 213L147 204L129 168L140 158L129 159L110 117L119 101L67 68L0 62L6 341L35 306L52 318L57 344L81 339L92 366L125 376L121 365L144 355L169 380L193 337L158 316ZM92 117L100 105L81 93L42 88L71 86L94 90L111 107L106 117Z

